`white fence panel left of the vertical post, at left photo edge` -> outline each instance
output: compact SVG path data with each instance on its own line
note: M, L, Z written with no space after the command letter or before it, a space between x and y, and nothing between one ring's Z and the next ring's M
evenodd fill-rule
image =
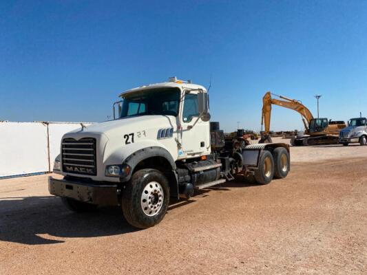
M0 123L0 177L48 171L47 124Z

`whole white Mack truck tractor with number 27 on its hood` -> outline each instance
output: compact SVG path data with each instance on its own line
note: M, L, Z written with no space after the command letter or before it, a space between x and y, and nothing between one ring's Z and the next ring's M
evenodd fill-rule
M205 87L169 78L120 94L114 120L66 133L49 178L52 195L76 212L120 206L136 228L159 223L170 197L234 179L269 184L290 170L289 146L225 137L209 122Z

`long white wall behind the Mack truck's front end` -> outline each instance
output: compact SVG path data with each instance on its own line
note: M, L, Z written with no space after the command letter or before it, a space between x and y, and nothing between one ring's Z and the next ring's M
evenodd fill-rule
M0 122L0 178L52 171L61 137L80 127L73 122Z

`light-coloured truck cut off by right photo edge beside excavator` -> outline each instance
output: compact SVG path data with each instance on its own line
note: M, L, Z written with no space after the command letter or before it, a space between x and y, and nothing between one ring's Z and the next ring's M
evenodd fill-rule
M351 118L339 133L339 143L348 146L350 143L367 144L367 118Z

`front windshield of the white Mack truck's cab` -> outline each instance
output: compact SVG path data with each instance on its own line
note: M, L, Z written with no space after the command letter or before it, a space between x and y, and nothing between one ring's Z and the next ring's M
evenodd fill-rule
M180 89L159 88L137 91L123 97L120 118L136 115L178 115Z

